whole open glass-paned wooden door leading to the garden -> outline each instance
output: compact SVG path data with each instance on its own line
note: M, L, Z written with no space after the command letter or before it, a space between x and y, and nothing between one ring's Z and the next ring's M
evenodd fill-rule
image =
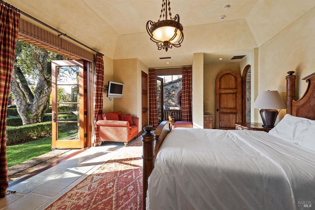
M85 147L83 60L53 60L52 147Z

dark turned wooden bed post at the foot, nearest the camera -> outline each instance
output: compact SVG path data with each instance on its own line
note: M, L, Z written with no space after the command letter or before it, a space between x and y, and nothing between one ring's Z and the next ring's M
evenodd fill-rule
M154 143L155 143L155 134L152 133L153 126L147 125L143 127L143 130L146 132L141 135L142 145L143 145L143 186L142 186L142 193L143 193L143 202L142 207L143 210L146 210L146 191L148 190L148 178L154 168Z

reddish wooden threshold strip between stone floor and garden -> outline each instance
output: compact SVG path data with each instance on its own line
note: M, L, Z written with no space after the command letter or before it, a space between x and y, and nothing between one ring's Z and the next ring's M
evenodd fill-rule
M51 167L54 167L54 166L58 165L59 163L62 163L64 161L68 160L69 158L71 158L73 156L76 156L76 155L80 154L81 152L83 152L83 151L85 151L87 149L89 149L89 148L83 148L81 150L73 152L70 155L62 157L62 158L60 158L59 160L57 160L55 162L49 163L48 165L46 165L46 166L44 166L42 168L39 168L39 169L37 169L37 170L35 170L35 171L31 172L31 173L28 173L28 174L26 174L25 176L23 176L21 178L15 179L15 180L9 182L9 187L8 188L13 187L14 185L19 184L19 183L23 182L24 180L26 180L28 178L31 178L32 176L35 176L35 175L37 175L39 173L42 173L43 171L45 171L45 170L47 170L47 169L49 169Z

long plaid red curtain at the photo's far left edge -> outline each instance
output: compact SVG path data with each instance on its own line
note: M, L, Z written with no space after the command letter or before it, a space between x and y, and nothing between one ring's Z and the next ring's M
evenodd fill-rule
M0 197L9 186L6 157L6 121L11 72L20 14L0 3Z

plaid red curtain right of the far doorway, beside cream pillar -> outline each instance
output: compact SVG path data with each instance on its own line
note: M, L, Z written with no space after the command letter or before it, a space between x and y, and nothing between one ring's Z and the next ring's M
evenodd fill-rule
M192 68L183 68L182 75L182 118L192 122Z

